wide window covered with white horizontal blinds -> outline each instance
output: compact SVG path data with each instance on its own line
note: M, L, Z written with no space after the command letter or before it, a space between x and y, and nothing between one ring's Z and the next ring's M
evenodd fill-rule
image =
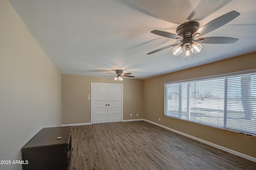
M164 83L164 115L256 135L256 70Z

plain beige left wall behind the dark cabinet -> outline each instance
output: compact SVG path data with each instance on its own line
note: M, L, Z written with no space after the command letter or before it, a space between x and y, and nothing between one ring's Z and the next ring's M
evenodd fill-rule
M60 126L61 116L60 72L9 1L0 0L0 160L21 160L22 146L42 128Z

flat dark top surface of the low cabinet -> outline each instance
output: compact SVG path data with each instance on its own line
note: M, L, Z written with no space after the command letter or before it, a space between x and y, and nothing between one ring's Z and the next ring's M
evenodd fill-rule
M23 148L69 144L71 126L43 128ZM57 139L62 137L61 139Z

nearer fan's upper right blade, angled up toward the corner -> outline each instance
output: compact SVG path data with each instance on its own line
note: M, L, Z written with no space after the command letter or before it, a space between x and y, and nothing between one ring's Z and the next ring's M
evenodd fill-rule
M228 22L232 21L233 19L235 19L236 17L238 17L240 15L239 12L236 11L231 11L228 12L210 22L208 22L207 24L205 24L204 26L202 26L201 28L199 28L196 32L194 32L194 34L192 36L194 36L195 34L199 33L200 36L207 34L208 32L211 32L213 30L216 30L217 28L220 28L221 26L227 24Z

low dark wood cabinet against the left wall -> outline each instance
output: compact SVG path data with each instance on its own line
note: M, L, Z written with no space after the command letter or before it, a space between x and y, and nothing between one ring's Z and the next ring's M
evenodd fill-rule
M43 128L21 149L22 169L70 170L71 143L71 126Z

